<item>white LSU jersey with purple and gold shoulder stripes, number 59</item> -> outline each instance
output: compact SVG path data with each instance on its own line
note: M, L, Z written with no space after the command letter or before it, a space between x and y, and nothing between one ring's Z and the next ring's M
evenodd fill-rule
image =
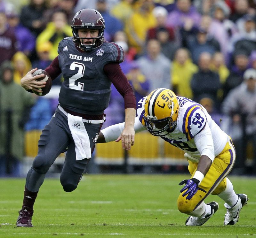
M135 123L135 132L141 131L141 127L146 129L143 119L146 98L142 98L137 105L137 114L141 125L138 125L138 122ZM180 105L177 125L174 131L167 135L164 135L166 132L160 133L160 136L163 134L161 138L184 150L187 159L198 162L204 150L203 147L207 146L208 142L204 142L203 144L196 143L195 136L200 139L204 134L208 133L212 135L214 157L219 155L228 142L229 136L212 120L211 116L201 104L185 97L177 96L177 100ZM208 141L209 144L212 144L210 140ZM213 160L214 157L211 159Z

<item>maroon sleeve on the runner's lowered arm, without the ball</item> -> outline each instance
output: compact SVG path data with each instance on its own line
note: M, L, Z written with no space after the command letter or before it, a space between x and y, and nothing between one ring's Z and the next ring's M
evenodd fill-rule
M104 72L112 81L117 91L124 97L124 108L136 109L136 98L131 84L128 82L118 63L109 63L104 66Z

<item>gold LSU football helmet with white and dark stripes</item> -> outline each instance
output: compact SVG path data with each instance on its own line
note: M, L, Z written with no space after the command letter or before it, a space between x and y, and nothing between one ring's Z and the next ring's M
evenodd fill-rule
M180 106L172 90L157 88L152 91L147 96L144 107L143 119L151 134L164 136L176 126ZM160 133L162 134L160 135Z

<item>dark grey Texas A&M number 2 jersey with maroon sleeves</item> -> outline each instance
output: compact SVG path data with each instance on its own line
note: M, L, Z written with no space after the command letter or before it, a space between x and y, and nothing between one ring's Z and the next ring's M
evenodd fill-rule
M115 43L104 42L89 52L78 50L72 37L59 44L57 59L46 68L52 79L62 72L64 82L59 95L60 105L70 111L100 115L108 107L111 83L125 100L125 108L136 108L131 85L118 63L124 60L123 49ZM113 64L112 64L113 63Z

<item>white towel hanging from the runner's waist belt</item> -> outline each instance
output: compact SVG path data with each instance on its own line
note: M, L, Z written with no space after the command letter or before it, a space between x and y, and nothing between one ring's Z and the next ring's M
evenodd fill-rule
M76 145L76 160L92 157L90 139L82 119L68 113L68 126Z

